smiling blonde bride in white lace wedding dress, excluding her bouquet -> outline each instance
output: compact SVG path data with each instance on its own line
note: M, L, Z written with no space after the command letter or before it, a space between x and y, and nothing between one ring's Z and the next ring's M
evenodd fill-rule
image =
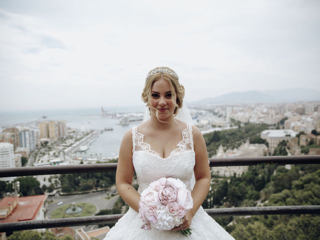
M184 87L179 84L177 74L168 67L152 69L141 96L149 119L124 134L116 169L117 191L129 209L104 240L185 239L180 230L188 227L192 229L189 239L234 239L201 207L211 178L206 145L198 128L179 120ZM139 184L137 191L132 186L134 171ZM195 184L191 189L193 173ZM183 223L171 230L140 229L143 225L137 213L140 193L163 176L185 183L191 191L193 207L185 214Z

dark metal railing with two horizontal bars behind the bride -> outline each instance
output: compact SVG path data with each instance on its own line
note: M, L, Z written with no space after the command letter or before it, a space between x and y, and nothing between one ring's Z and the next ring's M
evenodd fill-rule
M227 157L210 158L210 167L214 166L239 166L258 164L319 164L320 155L300 156L263 156L263 157ZM60 166L35 166L0 168L0 176L27 176L46 174L66 174L85 172L115 171L117 163L77 164ZM219 215L262 215L262 214L320 214L320 205L297 206L264 206L264 207L233 207L210 208L205 211L211 216ZM56 218L33 221L19 221L0 223L1 231L16 231L36 228L49 228L61 226L94 225L99 223L114 223L123 214L86 216L71 218Z

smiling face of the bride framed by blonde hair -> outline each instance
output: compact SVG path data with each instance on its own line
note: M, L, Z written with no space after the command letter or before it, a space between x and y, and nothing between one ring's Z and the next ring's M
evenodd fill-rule
M151 87L150 98L150 111L156 115L158 112L158 118L165 120L173 115L176 101L176 94L172 92L171 86L168 81L163 78L156 80ZM155 110L155 109L156 110Z

